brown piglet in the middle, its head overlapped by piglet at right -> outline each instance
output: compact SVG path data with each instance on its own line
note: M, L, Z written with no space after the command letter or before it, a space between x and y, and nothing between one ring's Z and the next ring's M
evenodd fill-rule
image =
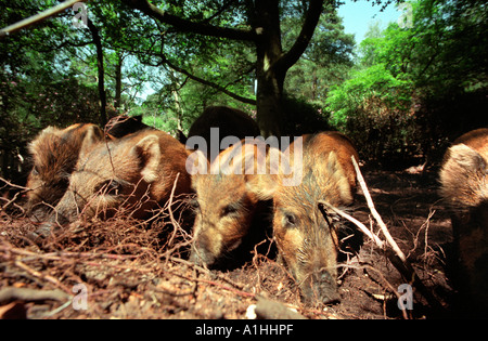
M267 239L267 232L271 234L271 202L261 198L260 176L265 175L259 174L268 149L258 140L243 140L221 152L206 172L193 175L193 262L235 266Z

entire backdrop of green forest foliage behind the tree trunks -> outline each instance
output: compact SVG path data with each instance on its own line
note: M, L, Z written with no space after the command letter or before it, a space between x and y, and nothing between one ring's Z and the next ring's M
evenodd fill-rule
M56 3L0 0L0 26ZM170 133L187 132L209 105L256 115L256 105L243 104L259 97L255 42L189 32L127 3L133 2L88 2L102 41L110 115L143 115L146 124ZM192 23L251 31L257 27L253 1L151 3ZM308 2L275 3L284 53L300 34ZM380 160L425 155L447 137L488 126L481 115L488 110L488 6L472 0L409 3L413 27L393 23L381 31L373 26L354 51L337 3L326 2L305 53L283 74L284 133L332 124L357 142L363 157ZM72 18L68 10L0 40L3 175L14 172L13 160L25 155L26 143L40 129L100 121L92 32L73 29Z

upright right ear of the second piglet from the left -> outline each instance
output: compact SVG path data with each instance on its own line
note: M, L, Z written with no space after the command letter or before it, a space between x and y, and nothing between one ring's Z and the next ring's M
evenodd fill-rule
M134 152L141 160L142 179L147 183L156 181L160 161L159 139L156 135L145 136L134 146Z

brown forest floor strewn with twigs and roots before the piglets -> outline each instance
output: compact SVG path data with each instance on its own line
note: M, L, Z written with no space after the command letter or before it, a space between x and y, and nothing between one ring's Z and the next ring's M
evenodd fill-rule
M455 291L446 266L452 233L436 174L364 171L364 178L389 232L440 311L413 289L413 310L402 314L397 301L407 291L398 292L398 287L406 280L365 236L357 254L341 257L341 302L306 305L288 272L266 255L254 254L244 266L224 272L190 263L190 238L170 224L155 222L147 228L120 218L76 222L38 246L26 238L38 224L2 210L0 317L246 318L249 305L260 298L307 318L455 315ZM361 194L350 214L378 232ZM169 237L162 241L165 234Z

